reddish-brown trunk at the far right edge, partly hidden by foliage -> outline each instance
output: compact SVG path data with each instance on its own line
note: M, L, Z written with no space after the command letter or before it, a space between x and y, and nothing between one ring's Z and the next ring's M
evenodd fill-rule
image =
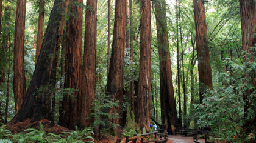
M242 27L242 40L243 40L243 51L244 55L246 53L254 53L254 50L250 49L250 47L254 47L254 44L256 42L255 38L255 28L256 28L256 13L255 13L255 0L244 0L239 1L240 2L240 15L241 15L241 27ZM244 56L244 62L249 62L253 59L249 59L247 56ZM256 82L255 79L252 79L250 75L245 74L247 85L250 84L255 87ZM252 92L254 92L254 88L251 90L247 90L246 93L243 94L243 99L246 101L246 104L244 105L244 118L246 119L248 116L248 109L251 108L251 110L255 111L255 106L253 101L248 98L251 98ZM246 133L251 133L251 131L255 130L256 127L256 118L253 119L246 119L244 122L244 128L246 128Z

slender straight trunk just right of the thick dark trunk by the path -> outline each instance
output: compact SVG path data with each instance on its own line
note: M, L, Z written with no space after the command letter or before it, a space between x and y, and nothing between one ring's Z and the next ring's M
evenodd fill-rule
M178 78L178 98L179 98L179 119L182 121L182 111L180 102L180 59L179 59L179 26L178 26L178 0L176 0L176 35L177 35L177 78Z

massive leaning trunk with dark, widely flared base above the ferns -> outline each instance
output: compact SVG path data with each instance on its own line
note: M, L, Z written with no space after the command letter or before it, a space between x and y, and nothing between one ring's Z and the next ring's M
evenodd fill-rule
M40 94L37 91L40 87L44 87L46 90L51 88L48 86L56 67L56 62L54 62L55 53L59 50L56 44L60 42L60 36L63 35L67 5L68 1L55 0L54 2L26 99L13 118L15 122L22 122L27 118L32 119L32 122L40 121L42 118L51 120L51 95L48 94L48 91L42 91ZM52 85L52 87L55 86Z

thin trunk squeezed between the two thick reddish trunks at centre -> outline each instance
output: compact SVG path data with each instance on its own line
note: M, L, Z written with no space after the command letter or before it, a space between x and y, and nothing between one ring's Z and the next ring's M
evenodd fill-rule
M133 62L133 39L134 39L134 35L133 35L133 32L132 32L132 0L129 0L129 4L130 4L130 61ZM133 74L132 74L132 77L131 77L132 81L130 81L130 93L131 93L131 99L130 99L130 102L132 104L132 110L134 111L134 96L135 96L135 93L134 93L134 81L133 81Z

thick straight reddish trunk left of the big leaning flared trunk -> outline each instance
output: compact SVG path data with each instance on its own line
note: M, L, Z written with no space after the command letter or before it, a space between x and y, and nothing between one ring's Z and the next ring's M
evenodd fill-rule
M15 99L15 113L21 108L26 96L26 79L24 70L24 37L25 37L26 0L17 1L14 59L13 59L13 93Z

